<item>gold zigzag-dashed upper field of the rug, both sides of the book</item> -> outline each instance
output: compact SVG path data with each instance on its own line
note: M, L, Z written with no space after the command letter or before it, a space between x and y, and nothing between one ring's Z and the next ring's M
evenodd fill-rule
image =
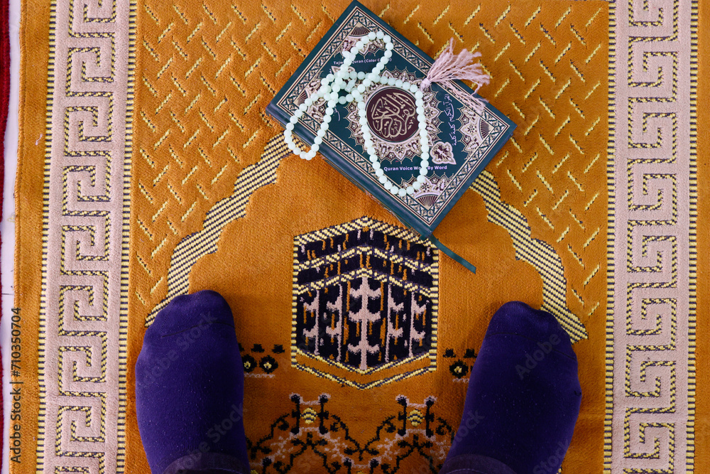
M188 10L148 0L139 11L133 162L145 243L134 258L144 272L136 296L146 308L169 292L165 252L199 230L241 168L256 163L255 151L280 130L266 104L348 3L282 13L271 1L208 0ZM449 36L482 53L491 73L482 95L518 123L488 170L535 238L555 248L567 274L566 307L591 316L605 296L595 257L604 245L597 223L606 217L599 146L606 108L594 107L606 91L608 38L596 24L606 18L603 8L553 3L543 13L535 4L472 4L461 15L448 5L410 6L374 11L432 56Z

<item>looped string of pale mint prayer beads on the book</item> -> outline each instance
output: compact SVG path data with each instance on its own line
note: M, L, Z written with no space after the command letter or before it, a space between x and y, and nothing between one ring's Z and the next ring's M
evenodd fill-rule
M378 63L372 68L370 72L348 72L349 66L353 63L356 55L366 50L367 46L375 40L382 40L385 43L385 53ZM424 113L424 94L420 87L416 84L403 81L401 79L395 80L393 77L382 77L380 73L384 70L385 65L389 62L392 57L392 50L394 44L392 43L391 36L385 34L383 31L377 31L376 33L371 31L367 36L361 38L350 50L344 51L343 64L336 71L336 73L329 74L321 80L320 89L315 92L315 94L308 97L303 104L300 104L298 109L295 110L293 117L290 118L289 123L286 124L286 129L283 132L284 139L288 148L293 151L297 156L305 160L310 160L315 156L315 153L320 149L320 144L323 142L323 137L328 131L329 124L332 121L332 115L336 104L346 104L349 102L355 102L357 106L357 112L359 117L359 124L362 129L362 138L364 139L364 148L369 156L370 163L375 170L375 175L377 176L380 183L384 185L386 190L390 193L399 195L400 198L404 198L405 195L413 195L416 190L422 187L424 181L426 181L426 176L429 166L429 134L427 133L427 118ZM372 141L372 134L370 132L370 127L367 122L366 108L363 93L373 84L380 83L382 85L390 85L398 87L406 92L411 92L415 96L415 104L417 107L417 119L419 121L419 138L421 145L421 158L422 163L420 163L419 176L414 184L408 185L406 188L400 188L393 181L391 181L388 176L384 173L382 166L380 164L380 158L377 156L377 151L375 149L374 143ZM304 112L310 107L314 102L319 99L324 99L326 102L325 115L323 117L323 122L320 124L320 129L318 130L315 139L313 140L313 145L310 147L309 151L302 151L298 149L293 140L293 127L298 122L298 120L303 116Z

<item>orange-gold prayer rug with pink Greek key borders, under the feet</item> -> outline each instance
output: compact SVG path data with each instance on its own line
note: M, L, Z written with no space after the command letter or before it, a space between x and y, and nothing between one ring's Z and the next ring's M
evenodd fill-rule
M476 274L265 112L346 1L23 2L11 473L148 472L133 365L201 289L234 311L254 473L436 473L513 300L574 340L563 473L710 469L707 4L364 4L480 51L518 124L437 229Z

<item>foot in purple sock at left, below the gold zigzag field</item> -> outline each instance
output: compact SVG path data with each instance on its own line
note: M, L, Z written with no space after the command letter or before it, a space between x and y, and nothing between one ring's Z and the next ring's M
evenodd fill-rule
M229 305L214 291L178 296L146 330L136 411L153 474L249 473L244 366Z

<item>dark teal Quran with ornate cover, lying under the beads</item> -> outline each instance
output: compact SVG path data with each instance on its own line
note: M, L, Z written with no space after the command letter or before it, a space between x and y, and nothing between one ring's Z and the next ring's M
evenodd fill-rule
M371 31L392 38L392 56L383 77L419 85L433 60L378 16L353 1L313 48L300 67L266 107L278 122L288 124L321 80L343 64L350 50ZM370 72L385 52L383 41L373 41L353 60L355 72ZM355 102L337 104L320 145L321 155L350 181L393 212L422 238L432 235L439 222L469 188L488 161L513 134L515 124L495 107L476 110L466 103L474 91L461 81L449 87L432 83L425 88L424 110L430 144L429 173L412 195L393 195L378 180L368 159ZM391 85L373 83L363 93L367 124L386 176L400 188L420 174L420 134L415 95ZM293 134L310 147L320 129L327 105L322 99L307 107ZM306 148L306 149L307 149Z

